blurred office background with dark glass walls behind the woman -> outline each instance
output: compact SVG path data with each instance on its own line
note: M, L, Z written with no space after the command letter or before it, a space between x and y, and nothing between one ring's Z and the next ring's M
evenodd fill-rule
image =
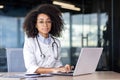
M59 39L64 64L76 65L82 47L103 47L97 70L120 72L120 0L0 0L0 71L9 69L7 49L20 54L18 49L23 48L26 14L44 3L56 5L63 13L65 30ZM17 56L11 57L13 63Z

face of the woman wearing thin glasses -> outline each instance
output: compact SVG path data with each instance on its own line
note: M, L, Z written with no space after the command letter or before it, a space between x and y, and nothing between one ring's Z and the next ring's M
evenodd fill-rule
M52 21L50 17L44 13L41 13L37 17L36 28L38 29L39 34L47 38L51 30Z

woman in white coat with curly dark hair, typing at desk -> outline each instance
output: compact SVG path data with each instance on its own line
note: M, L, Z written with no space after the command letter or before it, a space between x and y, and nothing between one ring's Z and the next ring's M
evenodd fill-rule
M58 8L41 4L30 11L24 21L25 38L23 53L28 73L69 72L70 65L60 61L59 37L63 20Z

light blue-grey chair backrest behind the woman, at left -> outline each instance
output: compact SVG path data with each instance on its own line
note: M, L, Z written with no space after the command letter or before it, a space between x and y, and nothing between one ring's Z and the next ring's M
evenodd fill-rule
M6 48L8 72L25 72L22 48Z

